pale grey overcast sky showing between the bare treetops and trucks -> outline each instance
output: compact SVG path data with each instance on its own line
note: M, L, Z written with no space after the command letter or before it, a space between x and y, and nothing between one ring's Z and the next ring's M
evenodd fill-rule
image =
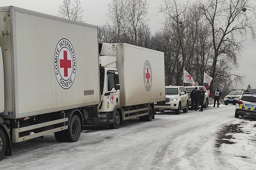
M161 28L161 23L164 20L163 14L159 14L159 7L162 0L147 0L149 3L148 18L151 31L154 33ZM182 0L184 1L184 0ZM101 25L107 22L107 4L111 0L81 0L82 7L85 10L83 13L83 20L89 24ZM191 1L192 2L192 1ZM17 6L37 12L56 15L59 5L62 0L1 0L0 6ZM244 79L244 84L239 88L246 88L248 84L252 88L256 88L256 42L248 37L244 43L244 50L239 58L240 67L237 73L241 75L248 75Z

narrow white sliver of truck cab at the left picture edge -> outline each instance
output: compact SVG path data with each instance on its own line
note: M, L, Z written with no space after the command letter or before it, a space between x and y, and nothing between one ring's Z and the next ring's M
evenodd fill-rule
M4 112L4 63L0 47L0 113Z

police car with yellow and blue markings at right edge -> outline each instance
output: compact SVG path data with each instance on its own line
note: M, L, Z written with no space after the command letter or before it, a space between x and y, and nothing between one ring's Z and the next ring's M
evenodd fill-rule
M256 117L256 94L245 94L237 101L235 117L241 116Z

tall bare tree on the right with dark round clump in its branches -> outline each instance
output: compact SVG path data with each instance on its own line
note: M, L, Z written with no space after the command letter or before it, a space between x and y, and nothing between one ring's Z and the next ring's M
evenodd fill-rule
M254 37L255 6L250 0L210 0L201 4L200 10L211 26L213 40L213 66L211 69L211 90L216 81L218 63L225 56L235 67L242 42L248 34Z

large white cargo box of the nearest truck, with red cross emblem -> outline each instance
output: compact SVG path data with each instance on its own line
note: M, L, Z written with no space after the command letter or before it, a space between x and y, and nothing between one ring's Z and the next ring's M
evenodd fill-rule
M5 107L21 118L100 102L97 26L0 8Z

